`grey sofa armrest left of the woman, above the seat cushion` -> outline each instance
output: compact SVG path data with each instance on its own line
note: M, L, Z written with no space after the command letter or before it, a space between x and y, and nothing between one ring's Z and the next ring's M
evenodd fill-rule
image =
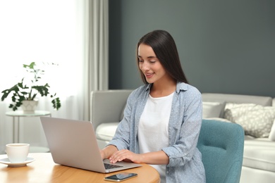
M94 130L103 122L119 122L121 120L121 113L131 92L133 90L128 89L91 92L90 117Z

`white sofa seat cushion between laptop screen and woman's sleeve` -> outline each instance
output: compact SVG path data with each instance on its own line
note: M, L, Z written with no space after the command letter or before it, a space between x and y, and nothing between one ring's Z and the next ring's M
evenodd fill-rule
M119 122L106 122L98 125L97 130L95 130L97 139L111 141L116 133L118 123Z

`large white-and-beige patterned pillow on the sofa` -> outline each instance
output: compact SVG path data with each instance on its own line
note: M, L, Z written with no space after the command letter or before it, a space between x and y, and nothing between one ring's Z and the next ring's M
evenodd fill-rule
M227 103L224 118L243 127L252 137L269 137L275 119L275 108L255 103Z

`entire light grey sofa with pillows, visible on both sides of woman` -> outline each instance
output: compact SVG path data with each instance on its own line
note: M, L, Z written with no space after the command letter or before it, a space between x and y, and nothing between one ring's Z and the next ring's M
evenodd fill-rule
M91 121L100 148L114 136L130 92L132 90L91 92ZM275 118L275 99L268 96L202 94L202 101L204 119L236 122L244 127L246 135L240 182L274 182L275 125L270 131Z

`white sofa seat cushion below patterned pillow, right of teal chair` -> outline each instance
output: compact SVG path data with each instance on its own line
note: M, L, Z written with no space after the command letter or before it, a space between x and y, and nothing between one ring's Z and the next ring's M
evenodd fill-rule
M275 143L268 138L245 137L243 166L275 172Z

